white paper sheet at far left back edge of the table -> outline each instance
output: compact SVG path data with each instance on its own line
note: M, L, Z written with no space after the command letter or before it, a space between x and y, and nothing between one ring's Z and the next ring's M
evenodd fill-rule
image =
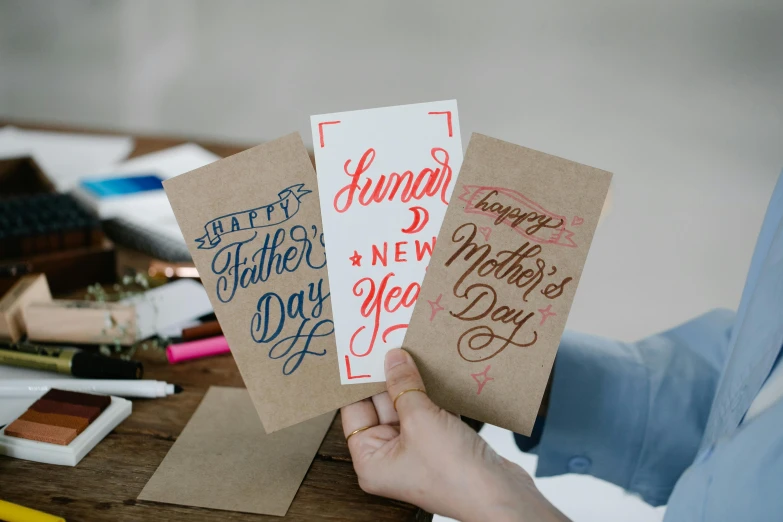
M32 156L59 191L72 189L88 173L111 168L132 151L130 136L0 129L0 159Z

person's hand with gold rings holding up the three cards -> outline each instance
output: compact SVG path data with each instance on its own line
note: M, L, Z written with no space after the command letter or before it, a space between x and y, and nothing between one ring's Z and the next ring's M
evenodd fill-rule
M463 522L566 520L530 475L419 391L424 383L406 351L386 355L386 387L341 410L364 491Z

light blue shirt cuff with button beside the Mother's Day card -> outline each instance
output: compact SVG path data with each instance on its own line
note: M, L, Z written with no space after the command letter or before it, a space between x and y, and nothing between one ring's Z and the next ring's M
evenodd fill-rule
M648 401L647 372L631 345L566 332L555 359L536 476L589 474L630 489Z

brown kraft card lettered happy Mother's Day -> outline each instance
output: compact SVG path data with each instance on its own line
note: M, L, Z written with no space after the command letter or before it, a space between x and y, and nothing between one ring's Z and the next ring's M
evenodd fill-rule
M472 136L405 337L436 404L530 434L611 177Z

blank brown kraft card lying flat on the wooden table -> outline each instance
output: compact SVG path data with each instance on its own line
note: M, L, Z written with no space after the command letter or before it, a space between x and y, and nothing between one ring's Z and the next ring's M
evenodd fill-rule
M284 516L333 419L267 435L247 390L212 386L139 500Z

